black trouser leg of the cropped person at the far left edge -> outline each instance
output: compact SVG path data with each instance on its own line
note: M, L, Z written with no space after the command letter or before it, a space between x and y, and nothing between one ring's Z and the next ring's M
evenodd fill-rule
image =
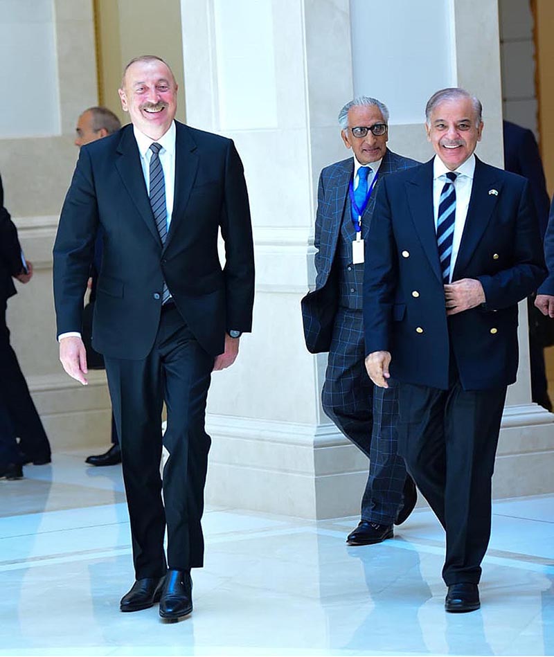
M19 438L19 449L31 460L50 458L51 449L37 408L17 362L6 325L6 300L0 300L0 398Z

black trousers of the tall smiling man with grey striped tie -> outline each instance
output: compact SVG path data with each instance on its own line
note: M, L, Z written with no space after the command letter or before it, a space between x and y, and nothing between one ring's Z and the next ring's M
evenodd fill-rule
M154 347L145 359L105 358L121 445L136 579L161 577L167 566L186 570L204 563L200 521L211 444L204 419L213 361L174 305L162 309ZM163 446L170 456L162 484L164 401L168 426ZM167 561L163 550L166 524Z

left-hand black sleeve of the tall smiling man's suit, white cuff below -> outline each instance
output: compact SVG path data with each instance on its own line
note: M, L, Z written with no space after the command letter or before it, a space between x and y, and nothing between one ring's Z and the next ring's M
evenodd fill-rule
M90 156L82 148L65 197L54 244L57 335L80 331L83 296L98 230L98 206Z

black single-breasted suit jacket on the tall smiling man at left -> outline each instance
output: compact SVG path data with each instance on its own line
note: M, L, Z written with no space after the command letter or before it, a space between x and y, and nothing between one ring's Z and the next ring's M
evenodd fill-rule
M92 343L105 356L141 359L150 352L163 280L213 356L223 352L226 330L251 330L253 242L242 163L231 140L175 123L175 200L163 246L132 125L82 147L64 201L54 246L57 333L80 330L101 225Z

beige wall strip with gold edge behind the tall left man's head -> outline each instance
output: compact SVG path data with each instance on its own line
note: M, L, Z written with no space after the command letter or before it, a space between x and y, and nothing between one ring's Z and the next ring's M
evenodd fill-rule
M118 87L125 64L137 55L159 55L179 84L177 119L184 121L184 73L179 0L94 0L98 51L98 98L129 123L121 109Z

